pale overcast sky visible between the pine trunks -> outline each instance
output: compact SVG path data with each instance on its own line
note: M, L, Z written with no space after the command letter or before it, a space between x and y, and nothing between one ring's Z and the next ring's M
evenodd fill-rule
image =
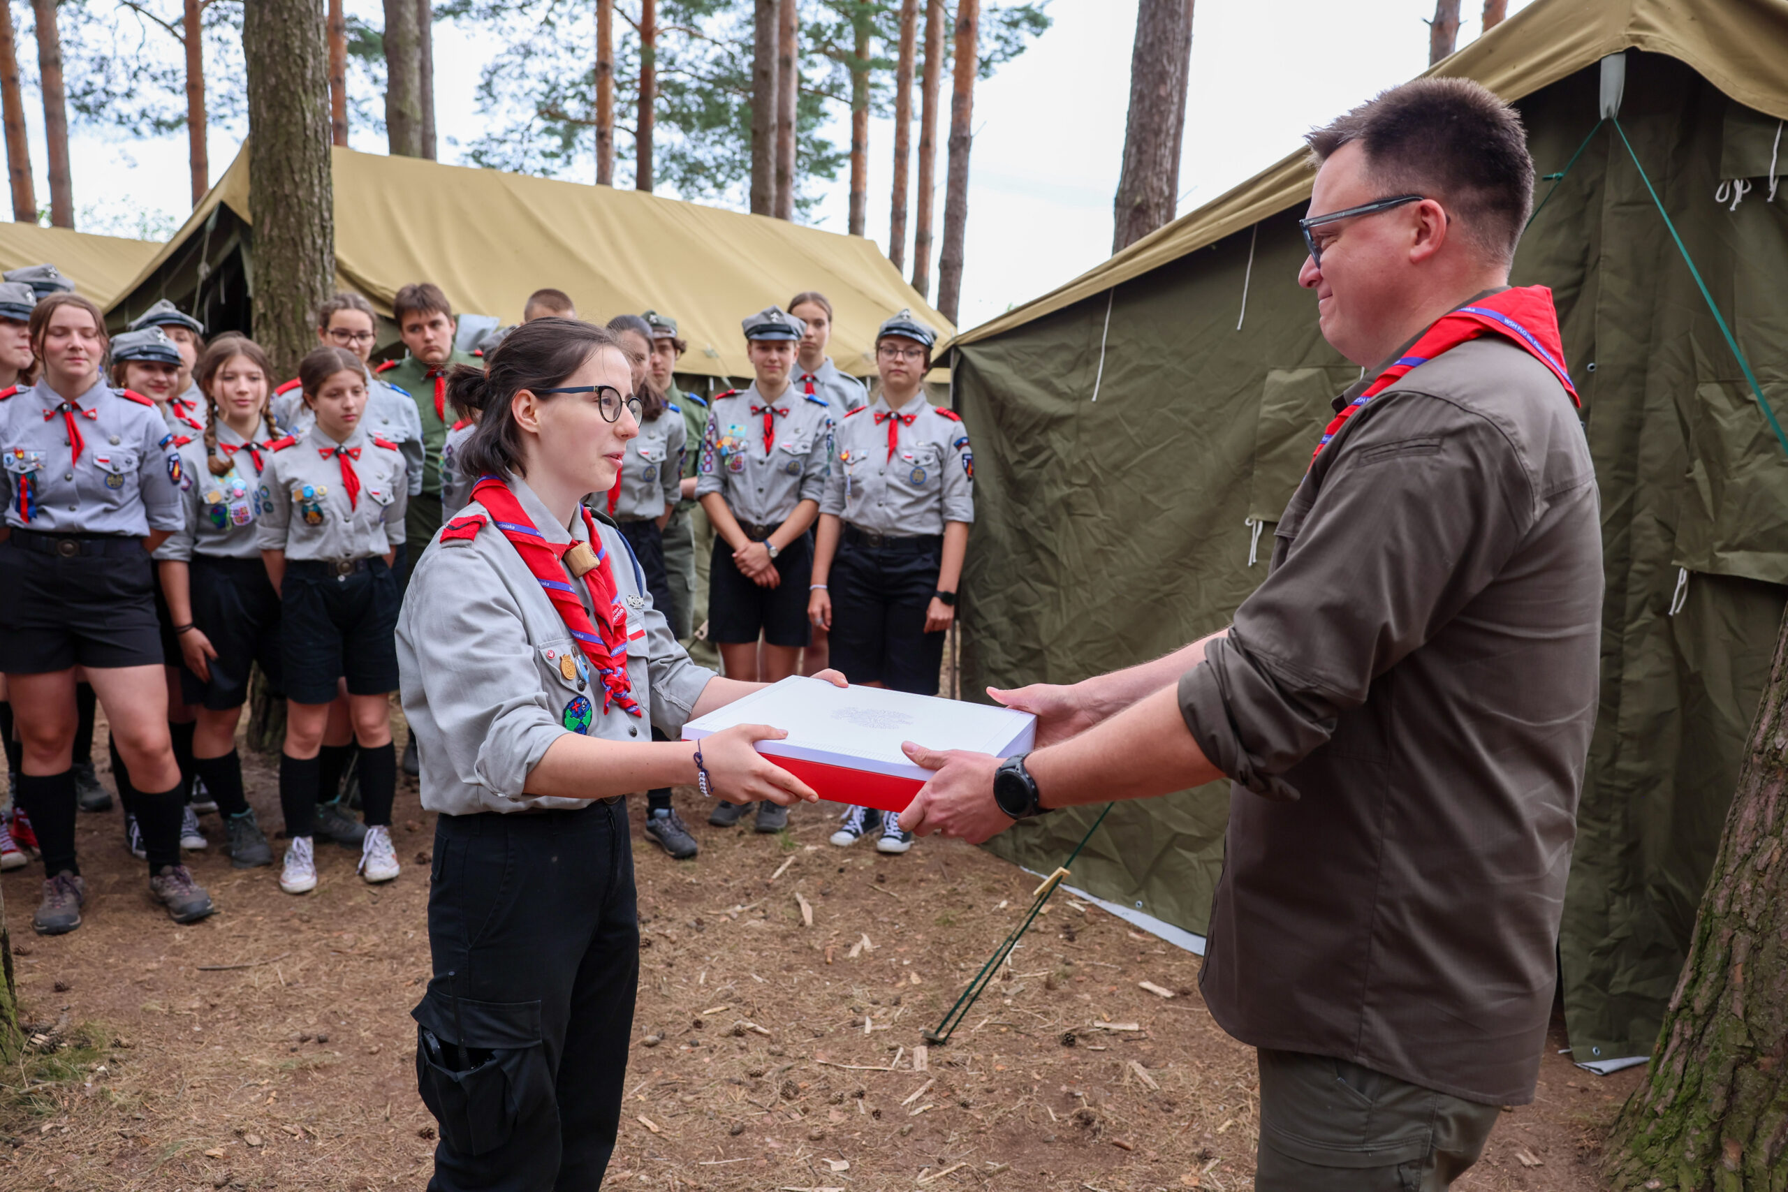
M379 21L377 0L349 0L347 7ZM1477 5L1464 7L1473 13L1459 45L1479 32ZM1509 4L1511 13L1522 7L1525 0ZM1110 254L1135 5L1050 0L1048 13L1055 21L1050 32L974 93L964 327L994 318ZM1311 125L1420 73L1429 46L1423 18L1432 13L1432 0L1357 0L1345 20L1332 0L1198 0L1180 214L1295 150ZM29 52L29 43L21 50ZM445 138L470 141L477 134L474 88L486 50L452 25L442 25L434 52L440 154L452 161L456 150ZM38 195L46 202L36 95L27 104ZM840 113L835 123L833 139L846 143L848 116ZM367 129L352 143L384 150L383 139ZM892 122L873 122L867 231L883 250L890 145ZM234 136L211 138L213 180L236 150ZM942 220L942 152L939 157ZM75 207L86 231L139 234L143 227L177 223L188 209L184 134L118 141L75 132L72 159ZM846 211L848 180L840 177L815 211L815 223L842 232Z

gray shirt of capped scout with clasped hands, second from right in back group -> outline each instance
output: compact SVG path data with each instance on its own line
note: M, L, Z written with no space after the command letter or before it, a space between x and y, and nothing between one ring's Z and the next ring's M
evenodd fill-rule
M756 384L713 399L696 497L721 493L740 522L778 525L799 502L824 495L833 420L824 399L790 384L771 404L774 440L765 445L763 409Z

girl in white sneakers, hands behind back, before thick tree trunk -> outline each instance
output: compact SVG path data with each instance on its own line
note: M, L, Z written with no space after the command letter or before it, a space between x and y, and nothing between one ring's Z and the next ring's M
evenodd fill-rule
M256 545L281 593L281 679L286 743L279 756L279 806L286 818L279 888L316 888L316 824L329 704L347 679L359 743L359 793L367 818L359 874L397 877L392 849L390 693L397 690L397 579L392 558L404 541L409 477L397 445L367 434L365 363L345 348L315 348L299 363L304 404L315 422L284 438L261 472Z

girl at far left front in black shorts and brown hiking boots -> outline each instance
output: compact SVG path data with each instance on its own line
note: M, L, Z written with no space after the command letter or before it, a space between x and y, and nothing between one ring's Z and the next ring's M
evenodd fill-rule
M23 742L18 802L43 851L32 928L80 926L75 860L75 667L105 704L134 776L150 892L175 922L211 913L181 863L181 770L168 740L168 684L148 550L181 527L181 456L147 397L100 375L105 322L59 293L30 315L39 377L0 400L0 672Z

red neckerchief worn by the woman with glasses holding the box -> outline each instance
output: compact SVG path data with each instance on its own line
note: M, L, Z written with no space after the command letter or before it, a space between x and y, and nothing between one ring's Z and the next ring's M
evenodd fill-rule
M578 599L578 590L565 572L563 556L578 545L576 540L563 545L547 541L535 529L533 520L529 520L515 493L510 491L510 486L495 475L486 475L472 486L472 500L490 509L495 527L502 531L502 536L510 540L515 552L522 556L522 563L540 581L542 592L547 593L552 608L558 609L560 620L565 622L570 636L583 647L585 658L590 659L595 674L603 677L603 715L608 715L610 704L620 704L620 709L628 715L642 715L638 701L631 695L633 684L628 679L628 608L617 595L608 547L603 545L590 511L581 506L578 509L583 513L583 524L590 533L590 549L595 550L595 567L583 577L590 588L590 602L603 611L603 620L594 624L590 622L590 615L583 611L583 600Z

